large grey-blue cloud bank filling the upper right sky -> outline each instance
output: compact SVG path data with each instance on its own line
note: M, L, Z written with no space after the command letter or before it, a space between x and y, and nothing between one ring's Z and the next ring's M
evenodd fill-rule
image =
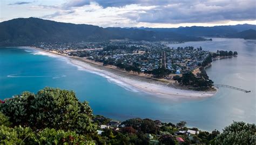
M217 21L255 20L256 3L247 1L193 1L158 5L156 9L121 14L143 23L214 23Z

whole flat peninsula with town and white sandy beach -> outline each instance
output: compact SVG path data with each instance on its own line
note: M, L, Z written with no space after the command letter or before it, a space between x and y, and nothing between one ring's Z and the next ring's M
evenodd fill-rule
M87 71L157 97L202 98L216 92L201 69L211 63L211 53L203 48L169 48L164 42L147 41L41 43L30 48L65 57Z

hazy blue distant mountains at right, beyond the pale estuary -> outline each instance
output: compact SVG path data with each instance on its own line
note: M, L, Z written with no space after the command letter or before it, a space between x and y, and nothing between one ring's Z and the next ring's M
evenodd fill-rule
M173 32L177 34L186 34L193 37L226 37L226 38L244 38L256 39L256 25L242 24L229 26L192 26L192 27L178 27L178 28L148 28L139 27L140 30L154 31L154 32Z

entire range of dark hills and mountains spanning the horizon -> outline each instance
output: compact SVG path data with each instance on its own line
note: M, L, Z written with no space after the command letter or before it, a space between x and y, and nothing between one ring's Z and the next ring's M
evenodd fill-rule
M35 42L201 41L202 37L256 39L256 25L179 28L120 28L60 23L39 18L17 18L0 23L0 46L25 46Z

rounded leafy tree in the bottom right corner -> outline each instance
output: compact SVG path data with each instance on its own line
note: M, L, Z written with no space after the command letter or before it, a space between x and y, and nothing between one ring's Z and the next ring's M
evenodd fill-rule
M255 124L233 121L215 140L216 144L256 144Z

